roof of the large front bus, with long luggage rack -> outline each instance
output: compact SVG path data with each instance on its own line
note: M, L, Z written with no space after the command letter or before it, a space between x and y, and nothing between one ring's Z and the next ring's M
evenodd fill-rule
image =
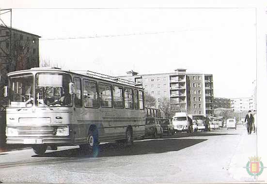
M31 68L28 70L19 70L19 71L10 72L7 75L10 76L10 75L23 74L23 73L27 73L27 72L33 72L33 71L65 72L65 73L69 73L69 74L73 74L73 75L80 75L80 76L84 76L84 77L93 77L95 79L101 79L101 80L105 80L105 81L109 81L109 82L113 82L113 83L117 83L117 84L125 84L125 85L129 85L132 87L143 89L139 86L135 86L133 81L129 81L129 80L118 78L118 77L112 77L112 76L108 76L105 74L92 72L89 70L87 70L87 71L84 71L84 70L67 71L67 70L62 70L61 68L57 68L57 67L34 67L34 68Z

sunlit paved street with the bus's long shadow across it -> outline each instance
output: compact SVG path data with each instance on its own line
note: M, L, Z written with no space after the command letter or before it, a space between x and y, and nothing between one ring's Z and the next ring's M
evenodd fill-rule
M249 145L248 145L249 144ZM101 144L97 157L78 146L36 155L31 149L0 153L3 183L195 183L255 181L246 169L256 135L245 127L176 133L135 141L131 148Z

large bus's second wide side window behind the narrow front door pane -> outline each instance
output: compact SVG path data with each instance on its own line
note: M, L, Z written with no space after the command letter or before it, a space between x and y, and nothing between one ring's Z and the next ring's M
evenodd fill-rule
M111 85L99 83L98 88L101 107L112 107Z

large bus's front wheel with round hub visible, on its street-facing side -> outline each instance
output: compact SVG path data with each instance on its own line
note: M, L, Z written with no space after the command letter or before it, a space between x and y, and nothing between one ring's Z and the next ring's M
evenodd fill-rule
M89 130L88 137L87 137L87 143L81 144L79 147L86 151L86 152L93 152L95 148L98 147L98 134L97 130Z

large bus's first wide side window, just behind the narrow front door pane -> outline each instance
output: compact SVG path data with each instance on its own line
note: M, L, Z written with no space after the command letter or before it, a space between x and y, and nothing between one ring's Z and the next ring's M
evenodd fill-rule
M83 102L84 107L99 107L96 82L83 81Z

